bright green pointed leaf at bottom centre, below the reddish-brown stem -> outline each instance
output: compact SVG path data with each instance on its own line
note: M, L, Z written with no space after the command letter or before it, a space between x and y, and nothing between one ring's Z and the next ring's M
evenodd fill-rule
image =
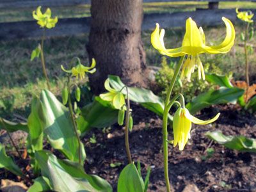
M118 192L143 192L144 191L144 182L140 177L134 163L128 164L125 166L124 170L120 173L118 184Z

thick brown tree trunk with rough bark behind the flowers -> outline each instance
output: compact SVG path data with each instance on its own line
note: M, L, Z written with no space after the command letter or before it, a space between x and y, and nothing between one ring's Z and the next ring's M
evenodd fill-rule
M104 92L109 74L128 85L144 86L145 52L141 41L143 0L93 0L89 58L97 71L90 78L95 94Z

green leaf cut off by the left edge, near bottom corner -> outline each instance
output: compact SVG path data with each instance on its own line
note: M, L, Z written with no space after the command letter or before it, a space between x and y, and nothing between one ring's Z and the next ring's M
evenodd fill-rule
M6 168L15 175L19 175L20 177L25 177L21 172L19 166L15 164L11 157L6 155L4 146L0 143L0 168Z

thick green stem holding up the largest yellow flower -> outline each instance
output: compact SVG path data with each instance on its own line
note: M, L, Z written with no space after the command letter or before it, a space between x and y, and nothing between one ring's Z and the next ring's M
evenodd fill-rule
M170 83L170 86L167 91L166 99L164 102L164 114L163 114L163 153L164 153L164 179L166 182L166 191L170 192L171 191L171 186L170 186L170 180L169 180L169 175L168 175L168 130L167 130L167 125L168 125L168 114L170 108L168 108L168 105L170 103L170 96L172 95L172 89L174 86L174 83L177 79L177 76L179 74L181 65L183 63L185 56L182 56L179 60L179 63L177 67L175 68L174 75L172 77L172 81Z

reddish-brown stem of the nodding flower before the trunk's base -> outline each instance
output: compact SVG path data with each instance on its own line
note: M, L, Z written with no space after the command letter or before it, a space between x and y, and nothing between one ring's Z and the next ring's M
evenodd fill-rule
M126 105L126 114L125 114L125 149L126 149L126 154L128 157L129 163L132 163L132 156L131 156L131 151L130 151L130 146L129 146L129 116L130 116L130 100L129 100L129 93L128 93L128 88L126 88L126 100L127 100L127 105Z

